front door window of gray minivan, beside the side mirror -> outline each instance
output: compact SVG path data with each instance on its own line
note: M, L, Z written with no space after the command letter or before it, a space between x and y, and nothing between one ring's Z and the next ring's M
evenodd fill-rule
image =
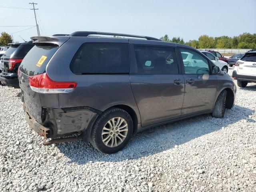
M185 74L209 74L209 65L208 60L198 54L197 52L194 52L192 50L188 49L180 49L182 60L184 64ZM184 58L184 55L186 58Z

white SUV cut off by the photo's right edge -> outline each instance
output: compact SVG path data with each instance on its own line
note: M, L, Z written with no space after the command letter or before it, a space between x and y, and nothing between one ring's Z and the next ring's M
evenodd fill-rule
M246 87L250 82L256 83L256 51L246 52L235 63L232 77L237 80L239 87Z

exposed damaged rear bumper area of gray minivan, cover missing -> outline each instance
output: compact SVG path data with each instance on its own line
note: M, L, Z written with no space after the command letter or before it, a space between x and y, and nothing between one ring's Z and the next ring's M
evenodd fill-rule
M44 138L57 138L84 132L100 113L88 107L52 109L42 108L42 124L36 121L24 105L25 118L29 126Z

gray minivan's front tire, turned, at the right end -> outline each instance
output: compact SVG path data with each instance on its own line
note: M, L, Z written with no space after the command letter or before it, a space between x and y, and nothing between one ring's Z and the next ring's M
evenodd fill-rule
M226 109L226 96L227 91L223 90L217 98L214 109L212 111L212 116L215 118L222 118L225 114Z

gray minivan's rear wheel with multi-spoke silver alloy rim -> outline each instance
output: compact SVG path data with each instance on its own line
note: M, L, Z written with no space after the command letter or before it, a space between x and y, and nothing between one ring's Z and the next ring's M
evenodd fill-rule
M132 118L125 110L110 108L103 112L92 128L90 142L102 153L116 153L132 137Z

